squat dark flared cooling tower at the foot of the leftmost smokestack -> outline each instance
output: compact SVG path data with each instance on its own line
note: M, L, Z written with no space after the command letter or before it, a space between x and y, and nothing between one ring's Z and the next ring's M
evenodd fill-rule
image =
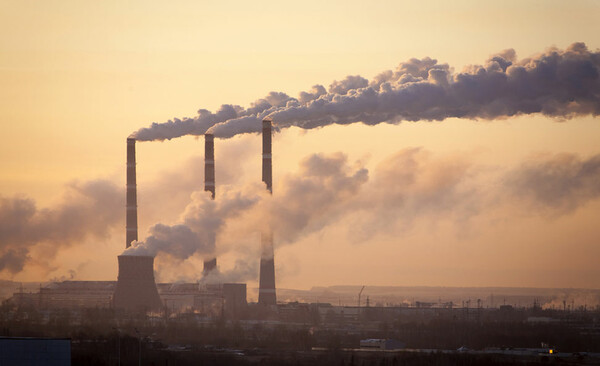
M119 277L113 297L117 309L160 310L162 304L154 282L154 257L120 255Z

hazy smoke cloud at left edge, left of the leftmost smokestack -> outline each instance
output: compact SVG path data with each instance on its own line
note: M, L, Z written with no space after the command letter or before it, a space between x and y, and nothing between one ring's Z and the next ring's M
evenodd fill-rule
M97 180L73 183L63 202L38 209L27 198L0 198L0 271L16 274L40 243L69 246L88 237L105 238L123 220L123 190Z

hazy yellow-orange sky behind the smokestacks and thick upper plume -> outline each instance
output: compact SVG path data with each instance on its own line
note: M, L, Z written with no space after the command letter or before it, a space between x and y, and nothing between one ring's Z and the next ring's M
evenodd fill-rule
M151 122L372 79L413 57L459 72L509 48L518 59L574 42L600 48L597 1L0 0L0 9L0 278L14 280L116 278L125 138ZM276 248L279 287L600 287L598 118L291 128L273 144L275 199L294 193L285 184L314 167L311 154L344 179L368 171ZM215 145L217 199L260 181L259 136ZM143 239L189 213L204 144L182 137L137 151ZM313 183L336 177L321 178ZM230 238L252 221L236 220ZM222 239L223 271L237 260L253 273L252 239ZM159 258L159 278L194 280L201 262Z

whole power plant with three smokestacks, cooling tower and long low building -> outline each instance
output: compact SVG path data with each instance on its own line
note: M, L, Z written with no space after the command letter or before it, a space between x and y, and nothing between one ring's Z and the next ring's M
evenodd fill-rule
M273 177L271 163L272 122L262 121L262 181L272 194ZM214 135L207 133L205 141L204 191L215 199L215 151ZM136 139L127 138L127 183L126 183L126 239L125 249L119 255L117 281L62 281L53 282L37 294L16 295L20 303L31 303L40 308L113 307L120 311L153 312L193 311L208 316L240 318L245 314L245 283L214 283L213 280L193 283L156 283L154 256L137 255L131 252L132 243L138 241L137 182L136 182ZM262 228L259 274L258 305L274 309L277 305L275 292L275 262L273 233L269 223ZM216 234L208 238L215 244ZM217 273L217 258L208 253L204 258L202 277ZM218 278L218 277L216 277Z

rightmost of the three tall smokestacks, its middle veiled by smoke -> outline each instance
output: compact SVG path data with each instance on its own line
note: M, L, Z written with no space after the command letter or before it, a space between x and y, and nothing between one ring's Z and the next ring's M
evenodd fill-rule
M273 171L271 164L271 120L263 120L263 182L267 190L273 194ZM273 252L273 233L263 232L261 240L260 281L258 287L258 303L261 305L276 305L275 292L275 260Z

